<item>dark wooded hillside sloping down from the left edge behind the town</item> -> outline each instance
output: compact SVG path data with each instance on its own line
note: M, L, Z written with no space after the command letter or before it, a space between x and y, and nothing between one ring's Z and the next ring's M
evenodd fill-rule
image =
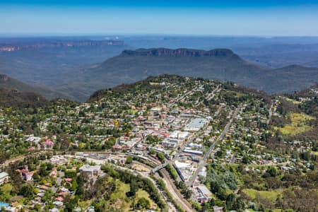
M45 88L44 86L31 86L27 83L23 83L14 78L8 77L5 74L0 74L0 88L6 88L8 90L20 90L21 92L28 93L40 93L48 99L54 98L67 98L67 95L59 93L57 91Z

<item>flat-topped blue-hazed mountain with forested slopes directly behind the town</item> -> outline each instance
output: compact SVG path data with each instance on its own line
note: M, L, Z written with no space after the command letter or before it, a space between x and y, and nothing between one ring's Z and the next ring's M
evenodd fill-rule
M132 83L163 73L233 81L266 93L302 90L318 81L318 69L286 66L271 69L241 59L230 49L137 49L86 69L83 76L102 88Z

